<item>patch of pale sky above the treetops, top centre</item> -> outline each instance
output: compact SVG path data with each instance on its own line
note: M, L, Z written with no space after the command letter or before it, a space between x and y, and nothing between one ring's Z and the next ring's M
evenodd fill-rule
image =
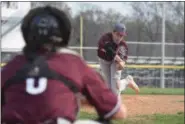
M72 14L75 15L80 10L80 4L88 3L100 7L102 10L107 11L113 9L123 15L129 14L131 11L128 2L66 2L67 5L72 9Z

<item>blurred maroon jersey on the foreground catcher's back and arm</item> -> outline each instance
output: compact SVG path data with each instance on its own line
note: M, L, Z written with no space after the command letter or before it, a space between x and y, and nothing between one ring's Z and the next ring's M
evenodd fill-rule
M67 52L65 52L67 51ZM1 71L1 88L26 63L23 55L16 56ZM120 102L94 70L73 51L63 49L47 60L49 68L72 80L95 106L99 115L109 118L118 111ZM37 124L47 119L63 117L76 119L79 106L74 93L57 80L48 80L41 93L26 92L26 83L12 85L5 92L6 104L2 108L2 120L13 123Z

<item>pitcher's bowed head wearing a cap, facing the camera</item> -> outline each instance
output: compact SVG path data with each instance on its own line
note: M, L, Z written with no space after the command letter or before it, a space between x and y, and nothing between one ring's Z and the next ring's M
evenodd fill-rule
M126 36L125 25L121 23L115 24L113 32L112 32L112 36L113 36L114 42L119 44L120 41L123 39L123 37Z

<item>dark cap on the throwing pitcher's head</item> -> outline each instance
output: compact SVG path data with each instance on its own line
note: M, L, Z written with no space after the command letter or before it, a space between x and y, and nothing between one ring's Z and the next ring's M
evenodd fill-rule
M113 31L118 32L120 35L125 36L126 35L126 27L124 24L116 23L114 25Z

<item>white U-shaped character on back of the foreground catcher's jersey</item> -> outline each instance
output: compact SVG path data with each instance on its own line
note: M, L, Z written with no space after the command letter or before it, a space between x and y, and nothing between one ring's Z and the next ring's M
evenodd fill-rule
M35 79L28 78L26 79L26 92L31 95L38 95L46 90L47 87L47 78L39 78L38 86L35 87Z

